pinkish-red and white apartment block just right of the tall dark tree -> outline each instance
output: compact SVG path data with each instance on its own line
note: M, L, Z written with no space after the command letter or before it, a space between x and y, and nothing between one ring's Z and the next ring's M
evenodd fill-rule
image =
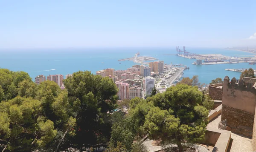
M116 81L116 86L118 88L118 98L119 100L129 99L129 84Z

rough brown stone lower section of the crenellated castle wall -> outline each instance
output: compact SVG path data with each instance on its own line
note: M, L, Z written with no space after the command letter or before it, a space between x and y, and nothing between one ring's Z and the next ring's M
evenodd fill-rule
M221 120L227 119L227 130L252 137L254 114L222 104Z

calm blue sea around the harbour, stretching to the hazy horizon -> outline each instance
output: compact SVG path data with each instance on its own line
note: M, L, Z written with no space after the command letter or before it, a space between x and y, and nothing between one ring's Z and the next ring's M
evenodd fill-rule
M246 55L256 55L250 52L236 50L217 49L217 48L186 48L187 52L195 54L223 54L227 56L244 57ZM214 64L214 65L192 65L196 59L187 59L179 57L176 54L176 48L98 48L98 49L13 49L0 50L0 68L10 69L12 71L27 72L33 80L37 75L67 75L77 71L88 70L93 74L96 71L113 68L115 70L124 70L134 63L133 61L119 62L123 58L134 57L140 52L140 56L155 57L163 60L166 64L183 64L189 66L184 71L183 77L192 78L198 75L200 83L210 83L211 80L227 75L232 79L239 79L241 73L226 71L224 69L242 69L253 68L256 65L248 63L233 64ZM172 54L172 55L166 55ZM121 64L119 64L121 63Z

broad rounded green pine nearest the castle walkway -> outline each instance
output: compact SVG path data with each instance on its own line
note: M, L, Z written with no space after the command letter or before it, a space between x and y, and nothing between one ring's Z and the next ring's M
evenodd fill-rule
M180 84L146 101L131 102L137 104L130 106L129 115L136 128L143 127L150 138L161 138L163 144L176 143L182 152L182 143L204 138L209 111L203 97L197 87Z

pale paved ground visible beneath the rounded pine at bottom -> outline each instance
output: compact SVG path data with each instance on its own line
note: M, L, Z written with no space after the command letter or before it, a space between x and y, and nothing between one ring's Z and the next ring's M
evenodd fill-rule
M153 146L152 142L153 140L149 140L149 139L146 139L143 142L143 145L145 145L148 148L148 152L155 152L163 149L162 146ZM176 146L177 146L176 144L170 144L170 145L167 145L166 147L176 147ZM210 152L204 146L201 146L198 144L192 144L192 146L189 146L189 147L195 148L197 150L196 152Z

